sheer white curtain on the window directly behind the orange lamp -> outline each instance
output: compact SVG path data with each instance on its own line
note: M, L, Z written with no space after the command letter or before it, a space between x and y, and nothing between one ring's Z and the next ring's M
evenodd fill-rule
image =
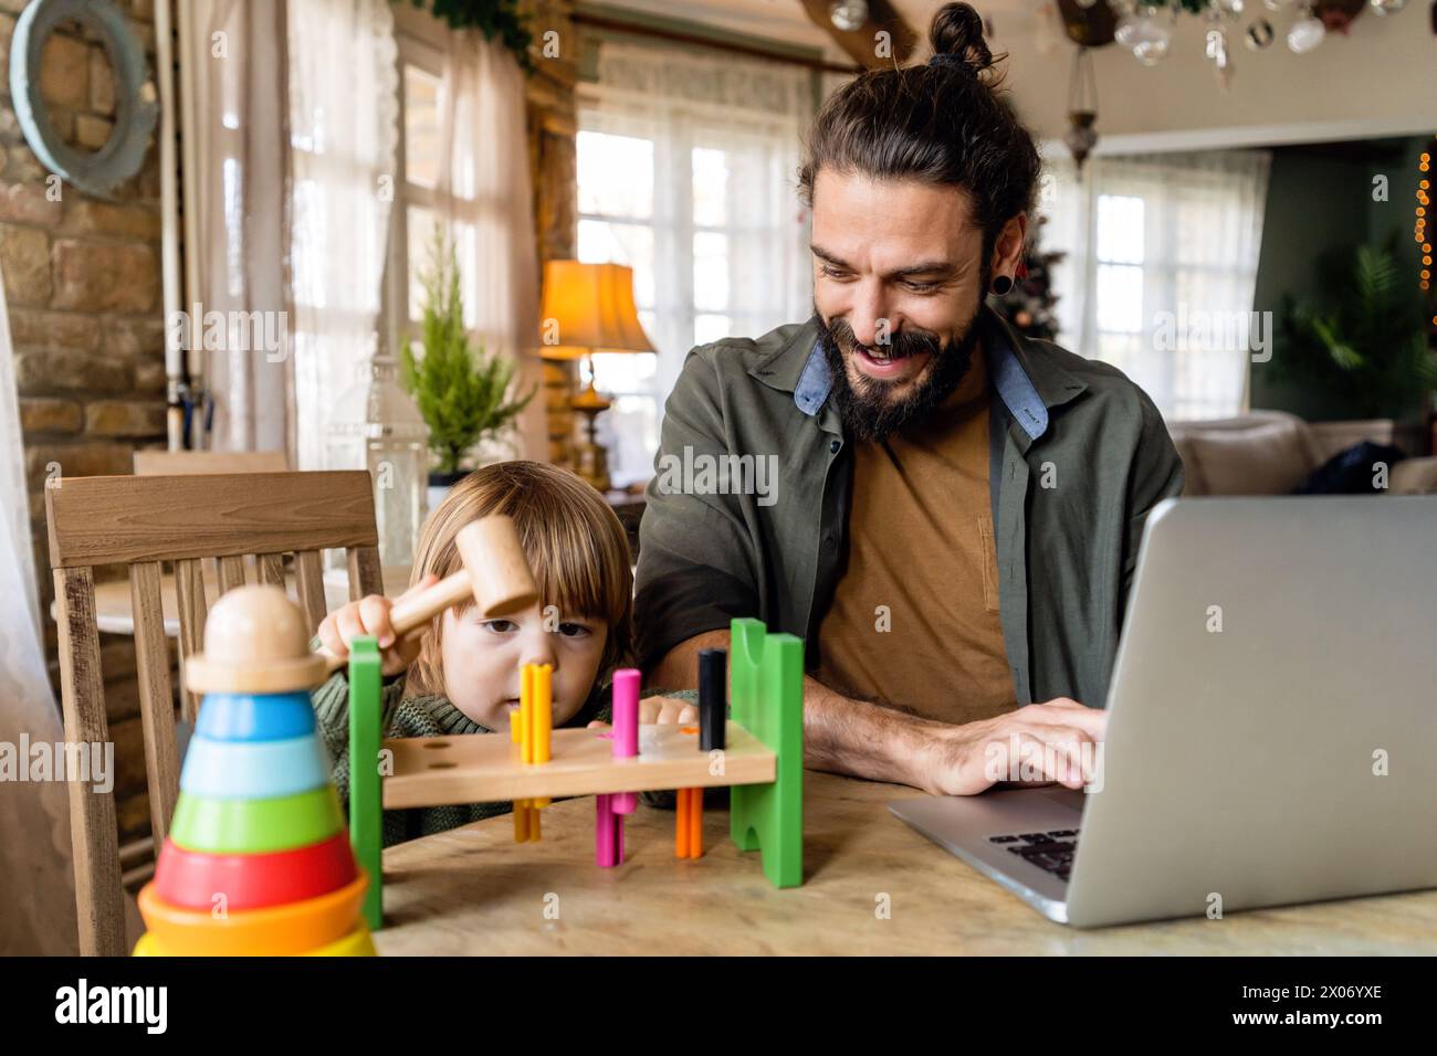
M798 201L813 76L799 66L599 45L579 111L579 257L634 267L657 358L601 356L616 484L647 480L662 401L696 343L812 313Z

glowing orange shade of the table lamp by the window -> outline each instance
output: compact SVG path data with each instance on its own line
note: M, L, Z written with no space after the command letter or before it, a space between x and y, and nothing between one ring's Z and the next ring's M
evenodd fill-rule
M550 260L543 266L539 352L579 359L591 352L652 352L634 305L634 269Z

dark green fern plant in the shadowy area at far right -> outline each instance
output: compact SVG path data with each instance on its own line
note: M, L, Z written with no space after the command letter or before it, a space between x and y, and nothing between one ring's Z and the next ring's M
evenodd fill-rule
M1285 296L1273 366L1341 395L1352 412L1404 418L1437 391L1421 297L1392 243L1359 246L1329 270L1318 302Z

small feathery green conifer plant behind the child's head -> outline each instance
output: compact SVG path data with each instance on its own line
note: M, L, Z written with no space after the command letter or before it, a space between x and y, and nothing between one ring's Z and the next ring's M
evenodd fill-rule
M464 476L460 464L476 444L513 427L537 385L509 399L513 361L470 341L464 329L458 254L443 226L435 226L430 267L420 282L424 286L422 355L415 352L414 342L407 342L399 355L399 372L430 427L430 450L435 455L430 486L448 487Z

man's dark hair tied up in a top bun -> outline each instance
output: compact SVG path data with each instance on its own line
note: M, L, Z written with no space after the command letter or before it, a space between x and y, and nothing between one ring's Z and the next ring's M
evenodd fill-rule
M813 204L821 170L961 187L987 266L1003 224L1030 213L1042 162L1000 92L1002 73L970 4L938 9L927 65L874 69L833 92L813 119L799 193Z

